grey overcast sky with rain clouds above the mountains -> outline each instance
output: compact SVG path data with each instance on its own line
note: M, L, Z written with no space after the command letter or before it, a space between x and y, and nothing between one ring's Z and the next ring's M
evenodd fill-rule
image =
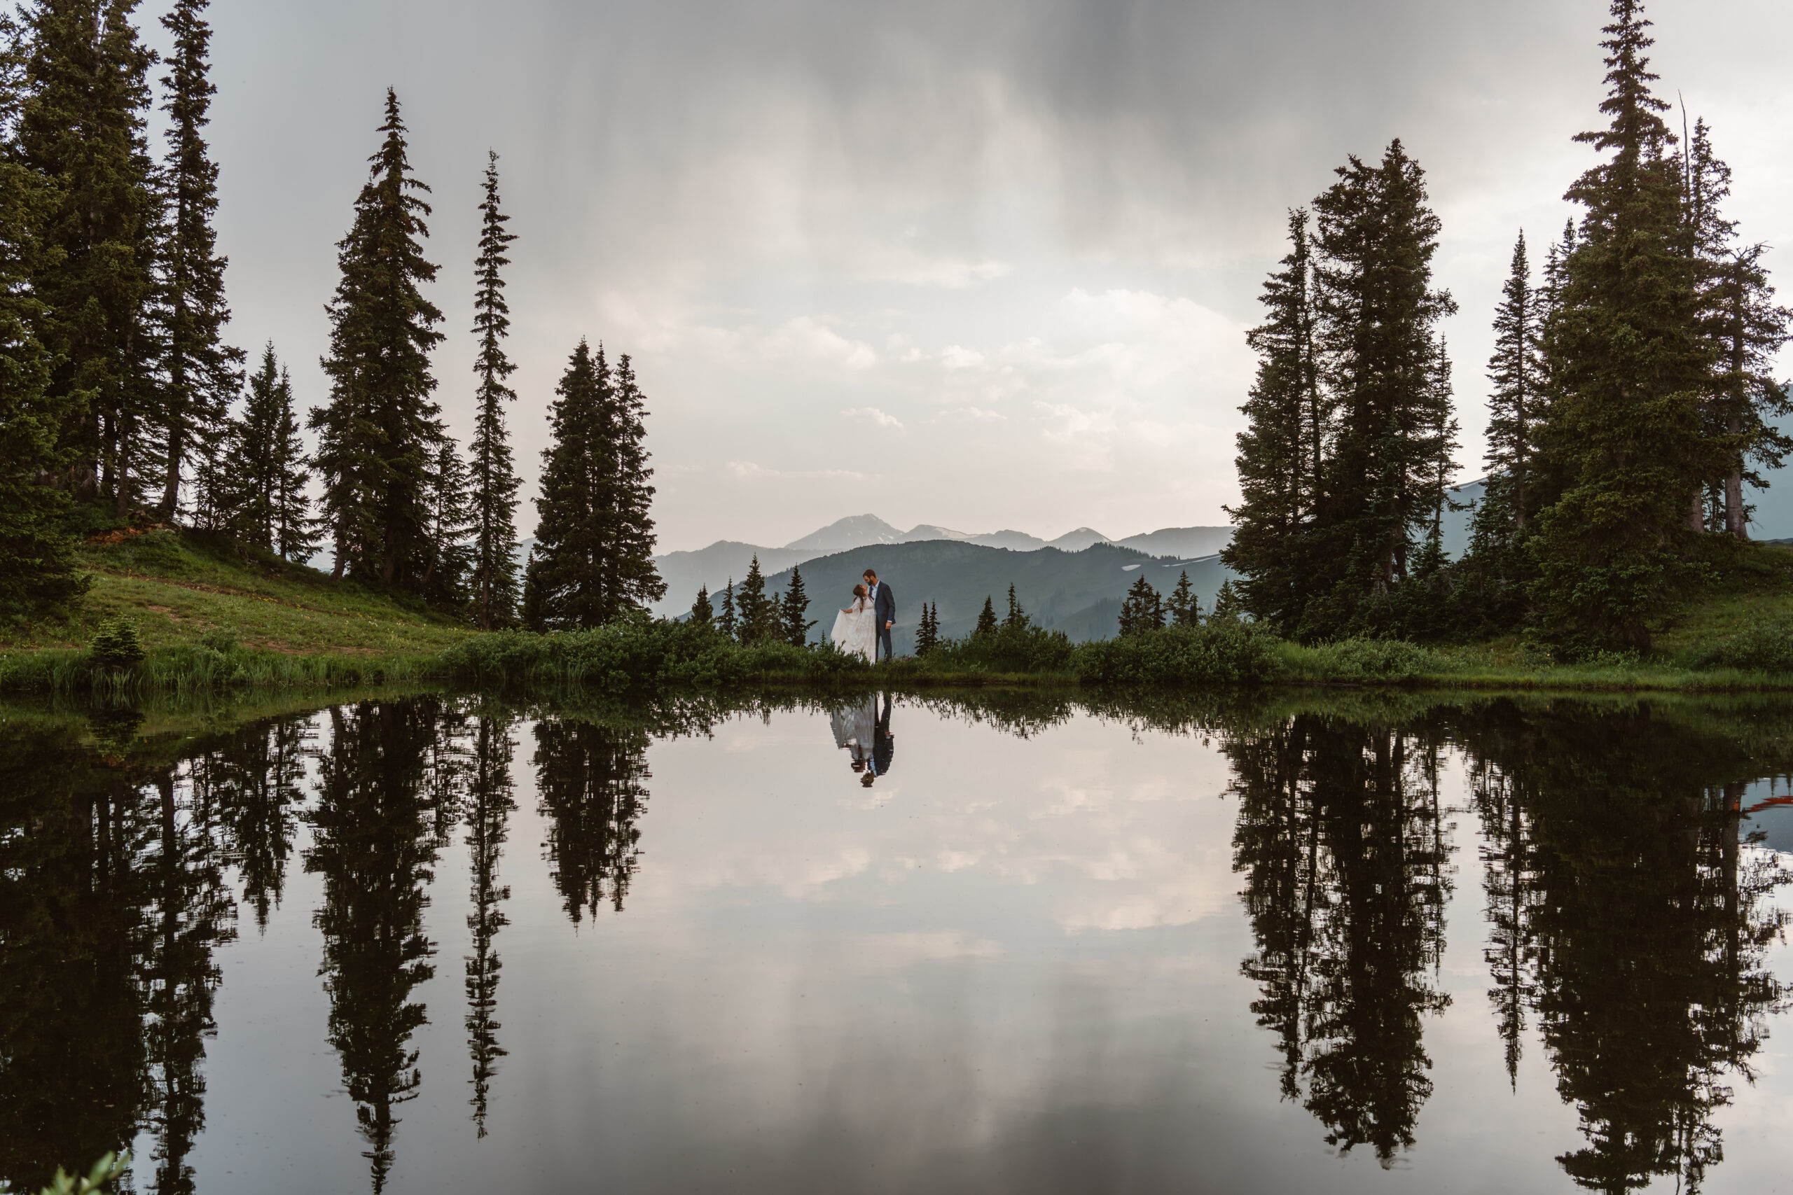
M140 11L163 45L160 7ZM1793 271L1784 0L1659 0L1653 63ZM579 337L649 398L660 548L898 527L1223 523L1244 328L1284 211L1400 136L1479 475L1488 321L1515 233L1592 159L1598 0L213 0L231 337L325 394L335 242L398 90L434 188L439 400L472 426L486 149L534 494ZM1782 262L1786 258L1786 262ZM1793 278L1793 274L1788 274ZM518 523L534 527L533 503Z

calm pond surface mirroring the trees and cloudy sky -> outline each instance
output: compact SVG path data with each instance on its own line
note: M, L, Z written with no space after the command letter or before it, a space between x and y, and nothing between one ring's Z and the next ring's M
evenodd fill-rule
M1793 1188L1793 706L244 717L0 709L0 1179Z

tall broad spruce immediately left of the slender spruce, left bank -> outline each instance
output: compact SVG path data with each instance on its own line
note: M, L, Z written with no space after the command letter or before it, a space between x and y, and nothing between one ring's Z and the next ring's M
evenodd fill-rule
M430 349L441 312L423 297L436 267L423 258L429 186L411 174L398 95L385 93L382 143L337 242L330 303L330 401L312 408L323 514L335 575L416 591L429 568L432 469L443 428Z

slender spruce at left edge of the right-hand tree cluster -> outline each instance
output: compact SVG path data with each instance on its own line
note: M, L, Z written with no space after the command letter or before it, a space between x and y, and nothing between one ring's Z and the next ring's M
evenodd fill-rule
M1302 563L1320 491L1327 403L1314 351L1312 253L1307 211L1289 213L1289 253L1264 281L1266 322L1246 333L1259 355L1257 380L1239 408L1237 507L1225 507L1234 536L1221 559L1239 572L1252 609L1293 625L1305 600Z

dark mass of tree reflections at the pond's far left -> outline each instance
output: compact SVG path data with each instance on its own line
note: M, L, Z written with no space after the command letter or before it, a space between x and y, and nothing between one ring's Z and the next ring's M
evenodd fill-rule
M194 1190L215 951L235 935L224 867L258 921L278 903L305 717L138 738L99 709L13 722L0 751L0 1181L154 1134L154 1190Z

